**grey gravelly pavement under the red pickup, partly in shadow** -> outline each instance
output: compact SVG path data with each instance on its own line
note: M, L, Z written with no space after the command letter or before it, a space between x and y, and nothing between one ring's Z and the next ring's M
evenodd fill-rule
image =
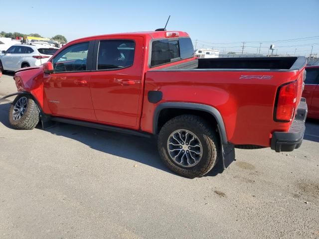
M12 75L0 95L15 92ZM1 239L319 238L319 121L300 149L236 149L221 173L168 171L150 139L59 124L14 130L0 103Z

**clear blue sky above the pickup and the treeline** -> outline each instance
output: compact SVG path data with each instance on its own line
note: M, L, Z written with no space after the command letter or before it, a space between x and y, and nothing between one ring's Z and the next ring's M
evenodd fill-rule
M154 30L164 26L169 14L167 29L188 32L194 44L199 40L197 48L241 51L245 41L244 51L256 52L258 42L271 41L262 44L262 52L274 43L280 53L294 54L297 48L302 55L310 53L309 44L319 43L319 0L0 0L0 31L62 34L73 40ZM318 37L272 42L311 36ZM319 44L313 52L319 54Z

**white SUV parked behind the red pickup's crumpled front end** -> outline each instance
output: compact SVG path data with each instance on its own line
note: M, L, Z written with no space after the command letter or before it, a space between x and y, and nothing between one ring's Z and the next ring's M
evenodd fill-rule
M48 44L15 44L0 54L0 71L16 71L47 62L58 50Z

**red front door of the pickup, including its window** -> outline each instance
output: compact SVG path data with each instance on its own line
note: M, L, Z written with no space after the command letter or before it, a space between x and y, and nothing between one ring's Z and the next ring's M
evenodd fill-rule
M55 116L95 120L90 93L90 62L94 42L73 44L51 61L53 73L44 74L44 92Z

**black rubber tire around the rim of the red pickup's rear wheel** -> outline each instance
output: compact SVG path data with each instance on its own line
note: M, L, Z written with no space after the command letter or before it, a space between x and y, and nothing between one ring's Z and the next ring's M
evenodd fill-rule
M169 135L178 129L193 132L202 144L202 157L193 167L183 167L171 159L167 150ZM173 172L187 178L200 177L208 173L216 164L220 149L216 129L198 116L181 115L168 120L160 129L158 150L166 166Z

